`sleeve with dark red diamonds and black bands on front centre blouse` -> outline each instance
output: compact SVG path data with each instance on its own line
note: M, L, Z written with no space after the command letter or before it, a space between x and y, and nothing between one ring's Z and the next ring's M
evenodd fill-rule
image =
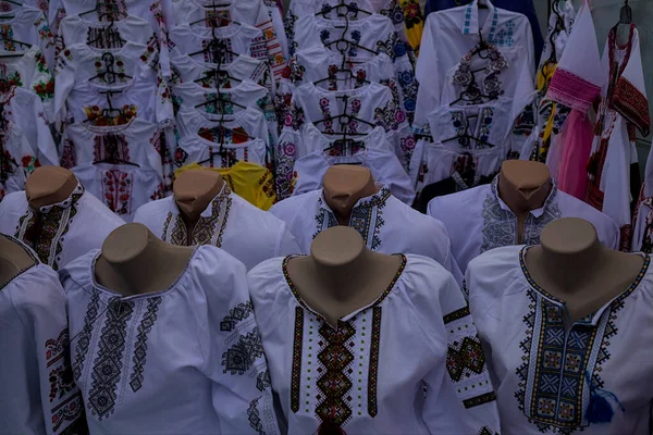
M463 403L464 419L477 433L498 433L496 395L465 297L460 291L443 294L441 306L448 347L446 382L454 386L458 401Z

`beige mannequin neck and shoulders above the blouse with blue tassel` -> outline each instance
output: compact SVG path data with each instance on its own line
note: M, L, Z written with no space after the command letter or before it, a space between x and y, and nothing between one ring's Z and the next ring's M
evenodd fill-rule
M582 219L549 224L540 246L526 256L526 266L538 285L564 300L576 322L624 293L637 278L644 260L604 247L596 229Z

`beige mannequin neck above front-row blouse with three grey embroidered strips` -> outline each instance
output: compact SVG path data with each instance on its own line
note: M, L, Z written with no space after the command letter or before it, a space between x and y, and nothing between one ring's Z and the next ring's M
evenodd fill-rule
M126 224L104 240L95 277L123 296L162 291L184 272L193 251L162 241L145 225Z

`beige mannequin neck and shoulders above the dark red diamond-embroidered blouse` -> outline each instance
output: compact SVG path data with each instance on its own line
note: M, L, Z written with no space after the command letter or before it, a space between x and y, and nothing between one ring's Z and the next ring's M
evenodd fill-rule
M315 238L310 256L291 259L287 271L305 302L335 327L377 300L401 265L397 256L370 251L356 229L334 226Z

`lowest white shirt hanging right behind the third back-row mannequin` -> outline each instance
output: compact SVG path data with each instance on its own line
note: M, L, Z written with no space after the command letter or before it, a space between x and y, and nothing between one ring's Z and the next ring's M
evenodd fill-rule
M383 148L364 148L350 156L332 156L317 151L295 162L293 196L322 188L329 167L337 164L360 165L370 170L372 177L387 186L392 195L406 204L415 201L415 188L397 157Z

